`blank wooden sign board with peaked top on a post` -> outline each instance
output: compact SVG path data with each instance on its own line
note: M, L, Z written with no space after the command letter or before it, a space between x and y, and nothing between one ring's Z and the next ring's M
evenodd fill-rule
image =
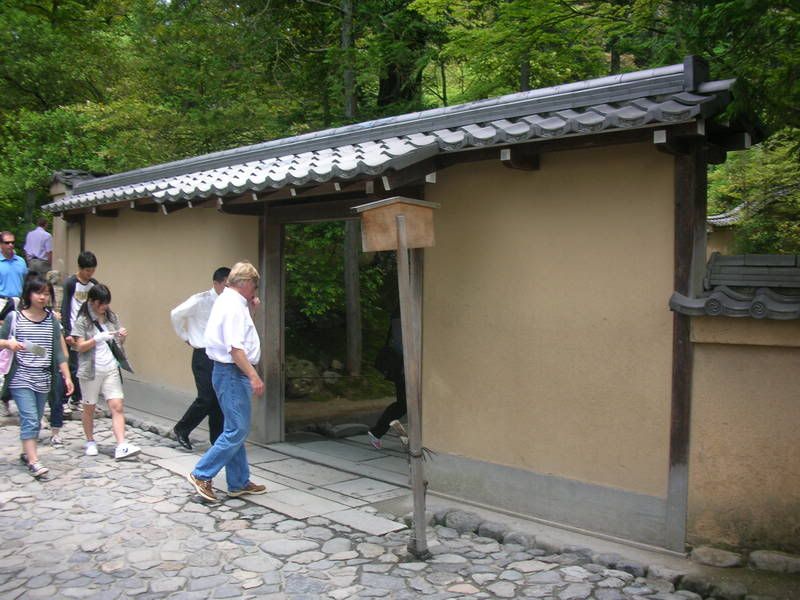
M436 202L395 196L353 208L361 214L361 247L364 252L397 250L397 215L406 218L409 248L434 245L433 209Z

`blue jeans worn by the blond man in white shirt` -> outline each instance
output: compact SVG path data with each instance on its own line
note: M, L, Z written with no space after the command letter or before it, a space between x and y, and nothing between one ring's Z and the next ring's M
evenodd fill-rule
M250 467L244 449L250 433L250 398L253 388L250 380L234 364L214 362L211 383L219 399L225 426L192 474L197 479L213 479L225 467L228 491L242 489L250 480Z

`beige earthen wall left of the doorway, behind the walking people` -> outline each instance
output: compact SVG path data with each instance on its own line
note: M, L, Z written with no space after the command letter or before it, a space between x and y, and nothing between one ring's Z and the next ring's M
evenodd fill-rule
M67 228L68 274L77 269L79 225ZM120 210L116 218L86 217L86 249L97 255L98 281L111 289L112 308L130 330L127 350L142 381L194 391L191 349L169 313L191 294L211 288L220 266L242 259L258 267L258 219L213 208L170 215Z

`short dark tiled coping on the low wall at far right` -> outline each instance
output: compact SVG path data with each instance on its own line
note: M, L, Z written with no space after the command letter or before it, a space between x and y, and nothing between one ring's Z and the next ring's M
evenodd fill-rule
M691 316L800 319L800 256L715 252L703 286L697 298L673 293L670 309Z

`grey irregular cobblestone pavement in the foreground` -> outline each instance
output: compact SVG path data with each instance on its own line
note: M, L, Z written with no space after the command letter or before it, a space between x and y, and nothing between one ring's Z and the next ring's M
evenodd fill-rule
M37 481L19 462L18 428L0 427L0 598L701 598L675 591L677 573L645 578L641 565L586 549L556 554L436 525L434 556L420 562L408 529L372 536L224 494L204 504L153 457L115 462L109 420L96 429L96 457L83 455L77 421L65 424L65 448L43 432L50 473ZM143 448L175 446L128 433Z

